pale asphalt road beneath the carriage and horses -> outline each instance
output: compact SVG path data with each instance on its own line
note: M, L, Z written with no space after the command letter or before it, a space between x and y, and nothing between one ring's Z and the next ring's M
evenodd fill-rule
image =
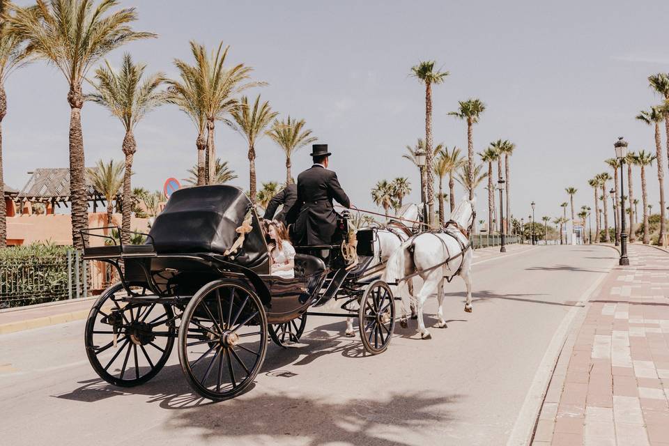
M587 246L479 255L472 314L454 279L448 328L421 340L415 321L397 324L377 356L343 337L344 321L310 318L305 346L271 344L251 390L222 403L194 397L176 348L153 380L122 389L91 369L83 321L2 335L0 443L503 445L555 330L615 256ZM431 298L428 327L435 312Z

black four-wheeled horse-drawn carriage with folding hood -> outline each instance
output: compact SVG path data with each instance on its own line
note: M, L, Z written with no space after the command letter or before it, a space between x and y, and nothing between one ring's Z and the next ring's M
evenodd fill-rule
M309 314L359 318L364 348L385 351L394 298L385 282L369 278L378 273L368 268L374 231L358 232L351 252L346 221L341 229L341 245L296 247L295 278L284 279L270 275L266 238L243 192L225 185L174 192L146 244L116 244L107 236L112 245L84 249L85 259L110 263L121 277L86 322L93 369L113 385L145 383L167 362L176 339L192 388L228 399L253 382L268 337L279 346L298 342ZM328 264L313 251L328 254ZM343 312L309 312L331 299L343 300Z

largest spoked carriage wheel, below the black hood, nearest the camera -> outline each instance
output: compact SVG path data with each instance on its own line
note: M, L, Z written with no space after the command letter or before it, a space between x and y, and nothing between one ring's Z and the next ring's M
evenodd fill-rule
M217 280L191 298L181 316L179 361L190 386L212 400L236 397L260 371L267 316L244 284Z

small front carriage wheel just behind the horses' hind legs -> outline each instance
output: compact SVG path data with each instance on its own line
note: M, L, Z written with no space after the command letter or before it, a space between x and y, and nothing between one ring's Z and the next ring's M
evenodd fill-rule
M395 305L392 291L383 280L372 282L362 295L358 310L360 339L372 355L383 353L395 328Z

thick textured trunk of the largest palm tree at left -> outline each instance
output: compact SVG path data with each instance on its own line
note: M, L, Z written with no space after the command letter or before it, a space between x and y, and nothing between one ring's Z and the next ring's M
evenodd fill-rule
M75 249L84 249L89 236L82 230L89 227L89 206L86 197L86 168L84 162L84 135L82 134L82 107L84 97L81 86L70 86L70 201L72 202L72 244Z

